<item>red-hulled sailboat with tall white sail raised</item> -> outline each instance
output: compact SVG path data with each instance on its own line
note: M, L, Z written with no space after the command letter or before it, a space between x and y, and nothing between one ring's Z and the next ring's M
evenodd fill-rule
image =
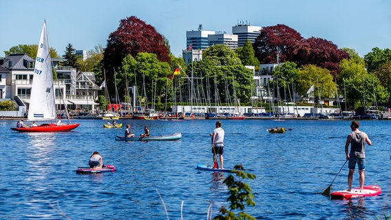
M46 22L43 23L41 38L39 39L38 52L36 54L34 77L28 109L28 120L55 120L56 103L52 76L52 60L50 58L49 40L47 39ZM66 108L65 108L66 109ZM68 115L68 113L67 113ZM69 117L67 117L69 118ZM37 126L11 128L19 132L58 132L70 131L79 124L56 123L40 124Z

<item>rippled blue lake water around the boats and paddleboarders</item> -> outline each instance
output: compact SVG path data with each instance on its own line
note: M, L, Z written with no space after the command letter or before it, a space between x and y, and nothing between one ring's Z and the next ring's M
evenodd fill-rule
M80 122L67 133L18 133L16 120L0 120L0 219L207 219L226 202L222 183L229 174L196 170L212 164L209 133L215 120L119 120L134 133L145 125L151 135L182 132L182 140L116 142L124 129L104 129L103 120ZM242 163L257 176L246 180L256 219L375 219L391 212L390 121L361 121L367 146L366 185L378 197L330 200L320 195L345 162L349 121L222 120L226 132L224 167ZM292 129L268 133L271 126ZM99 151L114 173L78 175ZM347 166L331 190L347 188ZM355 173L353 186L358 186ZM160 199L160 196L162 199ZM163 202L165 206L163 206Z

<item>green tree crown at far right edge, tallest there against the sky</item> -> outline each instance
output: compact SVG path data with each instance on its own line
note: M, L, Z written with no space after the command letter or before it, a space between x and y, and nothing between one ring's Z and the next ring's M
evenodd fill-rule
M379 47L374 47L372 52L364 56L364 60L366 61L368 72L377 71L384 63L391 62L391 50L381 50Z

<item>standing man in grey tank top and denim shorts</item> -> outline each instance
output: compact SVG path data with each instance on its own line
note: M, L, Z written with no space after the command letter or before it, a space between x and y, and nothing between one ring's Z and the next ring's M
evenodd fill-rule
M355 173L356 164L359 167L360 191L363 190L365 181L364 170L366 169L365 143L367 143L369 146L372 145L372 142L369 139L368 135L362 131L359 131L359 126L359 122L352 121L352 124L350 124L350 129L352 129L352 133L350 133L346 138L345 154L346 159L349 160L348 191L352 190L353 173Z

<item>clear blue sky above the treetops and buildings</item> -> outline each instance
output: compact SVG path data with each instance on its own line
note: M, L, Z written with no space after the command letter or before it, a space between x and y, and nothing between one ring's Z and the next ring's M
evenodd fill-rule
M164 35L175 56L186 49L187 31L202 24L204 30L231 34L239 21L288 25L304 38L326 39L360 56L373 47L391 48L390 0L17 0L1 2L0 57L10 47L37 44L45 19L50 46L63 55L68 43L76 50L106 47L120 19L131 16Z

